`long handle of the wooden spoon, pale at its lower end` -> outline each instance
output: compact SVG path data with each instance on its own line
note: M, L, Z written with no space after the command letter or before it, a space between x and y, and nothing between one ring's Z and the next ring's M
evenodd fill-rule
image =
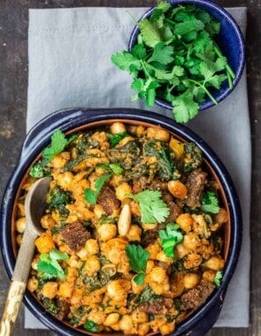
M28 274L31 268L31 261L35 251L35 233L25 230L19 254L15 263L12 281L4 305L4 313L1 320L0 336L13 334L14 324L18 317L19 307L23 300Z

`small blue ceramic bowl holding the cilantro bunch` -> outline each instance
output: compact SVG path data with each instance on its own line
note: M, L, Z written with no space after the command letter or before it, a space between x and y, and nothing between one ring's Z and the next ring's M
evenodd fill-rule
M234 71L235 78L233 80L233 88L228 87L227 80L225 80L219 90L211 90L211 94L214 96L216 101L219 103L227 95L229 95L233 89L238 84L239 80L242 77L242 72L245 65L245 43L242 35L242 31L238 24L235 22L233 17L218 4L212 3L210 0L165 0L166 2L177 6L178 4L195 4L196 7L207 11L211 16L217 19L220 22L220 33L219 40L217 44L219 49L222 51L223 55L227 58L228 64L231 66ZM156 7L150 8L149 11L146 11L141 19L148 19L151 13L155 10ZM141 20L140 19L140 20ZM140 29L138 26L134 27L134 30L130 36L128 42L128 51L131 51L136 44L136 39ZM166 102L162 99L156 99L157 105L164 107L168 110L173 110L173 105L169 102ZM207 98L203 103L200 104L199 110L203 111L205 109L213 106L214 103L210 98Z

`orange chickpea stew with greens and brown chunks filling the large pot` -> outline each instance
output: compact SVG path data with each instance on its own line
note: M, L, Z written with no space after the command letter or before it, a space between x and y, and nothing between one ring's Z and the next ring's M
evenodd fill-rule
M193 142L154 126L60 130L19 198L51 176L27 288L82 332L169 334L220 285L228 214Z

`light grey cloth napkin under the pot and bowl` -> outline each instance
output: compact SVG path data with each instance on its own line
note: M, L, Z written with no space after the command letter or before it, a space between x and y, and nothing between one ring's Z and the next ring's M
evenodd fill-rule
M145 8L131 8L140 18ZM246 8L227 9L245 33ZM134 23L124 8L30 10L27 130L50 112L69 107L132 107L131 78L111 63L111 54L127 49ZM251 148L246 73L218 106L202 111L188 126L207 141L226 165L242 202L242 254L228 287L216 326L249 325L249 200ZM26 313L27 328L42 328Z

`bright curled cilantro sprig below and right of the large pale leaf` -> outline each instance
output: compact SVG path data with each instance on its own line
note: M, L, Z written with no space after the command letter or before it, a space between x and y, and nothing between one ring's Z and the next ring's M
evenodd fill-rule
M175 246L183 241L183 233L180 230L180 225L168 223L165 230L159 230L158 235L165 256L174 257Z

